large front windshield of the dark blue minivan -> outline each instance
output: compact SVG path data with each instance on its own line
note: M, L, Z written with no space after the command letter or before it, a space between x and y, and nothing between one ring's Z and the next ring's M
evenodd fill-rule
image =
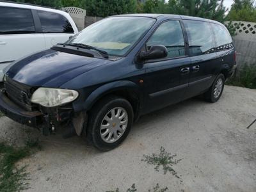
M66 44L85 44L123 56L156 22L148 17L109 17L83 29Z

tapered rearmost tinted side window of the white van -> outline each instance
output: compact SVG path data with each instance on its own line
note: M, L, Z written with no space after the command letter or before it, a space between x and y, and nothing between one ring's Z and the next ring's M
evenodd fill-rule
M43 33L73 33L74 30L68 20L58 13L37 11Z

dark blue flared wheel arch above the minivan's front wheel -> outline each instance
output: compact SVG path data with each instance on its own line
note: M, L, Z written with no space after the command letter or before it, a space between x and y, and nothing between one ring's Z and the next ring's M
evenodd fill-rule
M88 111L92 106L99 100L111 92L118 90L129 90L138 95L140 101L143 100L143 92L140 90L140 86L132 81L115 81L111 83L104 84L94 90L90 95L83 101L83 103L76 106L75 111ZM142 102L140 102L141 104Z

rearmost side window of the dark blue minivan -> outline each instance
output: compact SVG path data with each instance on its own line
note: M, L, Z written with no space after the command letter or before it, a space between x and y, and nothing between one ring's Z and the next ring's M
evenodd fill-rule
M227 29L218 24L212 24L212 29L216 41L216 51L230 49L233 47L232 38L229 35Z

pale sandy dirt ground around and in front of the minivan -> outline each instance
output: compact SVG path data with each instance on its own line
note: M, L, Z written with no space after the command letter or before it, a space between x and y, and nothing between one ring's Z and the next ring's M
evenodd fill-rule
M99 152L82 138L44 137L35 129L0 118L0 141L21 145L40 136L42 150L24 159L28 191L148 191L159 183L168 191L256 191L256 90L225 86L219 102L189 99L142 116L127 140ZM167 152L180 179L147 164L144 154ZM182 180L182 181L180 181Z

